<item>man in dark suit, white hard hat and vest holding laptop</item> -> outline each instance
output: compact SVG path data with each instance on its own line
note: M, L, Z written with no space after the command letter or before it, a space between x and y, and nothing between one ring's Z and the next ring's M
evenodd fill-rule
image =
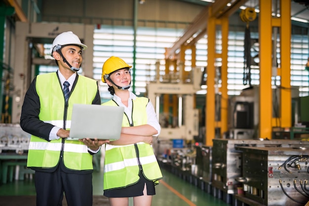
M77 74L86 48L72 32L59 34L51 48L59 69L38 75L25 95L20 126L32 135L37 206L62 206L64 193L68 206L92 206L92 155L109 141L67 139L73 104L101 104L97 81Z

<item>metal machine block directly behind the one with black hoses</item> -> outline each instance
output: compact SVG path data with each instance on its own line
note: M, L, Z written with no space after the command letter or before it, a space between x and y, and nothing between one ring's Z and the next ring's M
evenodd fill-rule
M309 147L308 141L300 140L259 140L259 139L213 139L212 148L212 190L213 195L232 203L232 195L236 194L237 187L242 183L239 177L243 177L243 156L240 146L251 147L276 147L294 148L304 145ZM256 155L248 155L252 158L252 164L256 164ZM256 164L256 167L258 165ZM259 166L260 167L260 166ZM268 171L268 170L266 170ZM246 172L246 171L245 171Z

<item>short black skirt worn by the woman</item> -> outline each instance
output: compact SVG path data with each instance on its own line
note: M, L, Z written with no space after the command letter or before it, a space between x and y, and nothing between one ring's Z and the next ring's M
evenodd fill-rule
M139 176L140 179L135 184L124 188L105 190L103 195L108 198L143 196L145 184L147 187L147 195L155 195L154 182L146 179L142 172L140 172Z

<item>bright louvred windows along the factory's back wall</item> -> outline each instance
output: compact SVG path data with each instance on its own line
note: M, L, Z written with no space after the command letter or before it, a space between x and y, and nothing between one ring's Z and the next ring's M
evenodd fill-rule
M102 25L94 30L93 78L99 82L102 102L111 99L107 84L101 81L102 66L110 56L118 56L127 64L134 66L131 70L134 76L134 87L137 95L143 96L147 82L154 80L155 63L160 62L160 74L164 74L164 53L166 47L171 47L183 29L139 27L136 32L136 59L133 65L134 31L128 26ZM219 34L220 35L220 34ZM258 39L257 32L251 32L252 39ZM221 48L220 40L217 42ZM300 87L300 96L309 95L309 74L305 70L308 61L309 40L307 34L292 34L291 39L291 85ZM49 49L51 45L45 45ZM228 95L239 95L241 90L248 87L243 84L243 50L244 31L230 26L228 42ZM258 54L258 46L253 51ZM278 60L280 58L278 57ZM191 51L185 54L185 70L191 69ZM196 67L207 67L207 38L201 38L196 44ZM39 73L51 72L57 67L40 66ZM252 66L251 84L259 85L258 66ZM275 78L278 79L278 78ZM276 81L278 85L279 81ZM274 80L272 81L274 83Z

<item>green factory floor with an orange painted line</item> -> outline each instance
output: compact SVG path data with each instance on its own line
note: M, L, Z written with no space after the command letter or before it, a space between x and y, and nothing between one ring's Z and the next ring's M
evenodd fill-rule
M230 206L164 169L162 173L152 206ZM30 178L0 184L0 206L34 206L35 195L34 181ZM103 172L93 172L93 195L93 206L109 206L108 199L102 196Z

